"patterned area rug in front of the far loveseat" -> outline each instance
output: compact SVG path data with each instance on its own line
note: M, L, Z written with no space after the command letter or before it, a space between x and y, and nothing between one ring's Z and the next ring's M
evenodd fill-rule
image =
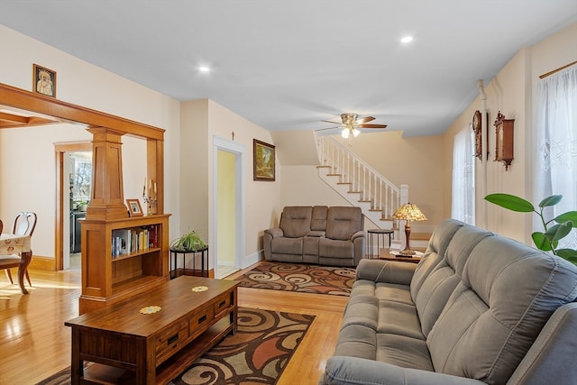
M348 296L355 271L353 268L267 261L236 280L240 280L244 288Z

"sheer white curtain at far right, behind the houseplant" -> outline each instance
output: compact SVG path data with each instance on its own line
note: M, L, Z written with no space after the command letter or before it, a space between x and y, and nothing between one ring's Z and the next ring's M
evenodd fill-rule
M550 195L563 195L547 213L559 215L577 209L577 64L540 79L535 105L535 204ZM543 229L537 217L534 228ZM577 231L560 243L577 248Z

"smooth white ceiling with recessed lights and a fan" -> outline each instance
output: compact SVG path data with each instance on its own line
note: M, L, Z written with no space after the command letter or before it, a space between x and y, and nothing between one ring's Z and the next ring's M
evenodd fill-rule
M577 0L0 0L15 31L270 131L352 112L444 133L479 79L576 21Z

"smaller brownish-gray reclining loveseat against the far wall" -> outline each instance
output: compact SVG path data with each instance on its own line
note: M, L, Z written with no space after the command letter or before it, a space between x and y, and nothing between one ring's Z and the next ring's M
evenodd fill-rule
M267 261L356 266L364 256L364 215L348 206L286 206L264 231Z

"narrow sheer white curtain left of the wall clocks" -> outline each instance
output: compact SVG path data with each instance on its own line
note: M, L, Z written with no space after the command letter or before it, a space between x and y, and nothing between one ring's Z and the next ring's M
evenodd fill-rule
M470 225L475 225L474 153L474 133L467 126L454 137L451 216Z

